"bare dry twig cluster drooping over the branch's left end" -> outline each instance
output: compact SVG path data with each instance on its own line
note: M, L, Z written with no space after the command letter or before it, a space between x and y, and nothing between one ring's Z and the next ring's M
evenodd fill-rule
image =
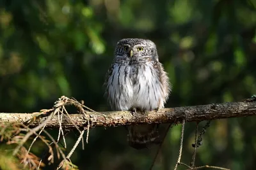
M84 128L83 131L81 131L79 129L79 127L72 121L72 118L70 117L70 115L68 114L68 111L65 108L65 106L67 106L67 105L76 106L79 109L79 111L81 113L83 113L84 117L86 117L87 127ZM76 150L76 148L79 145L81 140L82 140L82 145L83 145L83 149L84 149L83 134L84 134L85 130L87 130L86 143L88 143L88 136L89 136L89 130L90 130L90 117L86 114L86 111L84 109L93 111L90 108L88 108L88 107L84 106L83 104L79 103L75 99L69 99L68 97L65 97L65 96L60 97L58 99L58 101L56 101L54 103L54 107L51 110L41 110L40 113L36 113L36 117L33 117L31 120L29 120L30 123L35 122L35 120L38 116L43 115L43 114L45 115L46 113L49 113L49 116L44 120L44 122L42 122L42 124L37 125L33 129L30 129L27 125L22 125L21 124L21 126L24 127L22 131L26 131L27 133L26 133L25 136L15 136L15 138L13 138L13 140L10 141L10 143L17 143L18 144L18 146L13 151L13 155L17 155L17 153L20 151L20 148L24 148L24 146L23 146L24 143L26 143L26 141L28 141L28 139L33 134L35 134L36 137L33 139L31 145L29 146L29 149L26 150L26 148L25 148L26 155L24 156L24 159L23 159L23 162L25 162L24 165L26 166L27 164L29 164L30 167L33 166L33 168L37 167L37 169L39 169L40 165L42 164L42 159L40 161L37 160L36 164L35 164L35 161L32 161L32 160L28 161L29 157L31 157L30 156L31 155L30 154L31 147L33 146L33 144L35 143L37 138L40 138L48 146L48 148L49 148L48 152L50 153L50 155L48 157L48 160L51 160L51 162L53 162L54 155L53 155L52 146L49 145L48 141L46 141L42 136L40 136L40 134L42 132L44 132L46 134L46 136L48 136L48 138L51 139L52 143L56 147L56 151L57 151L56 153L57 153L58 159L60 159L60 155L63 159L63 161L61 161L60 166L58 167L58 169L61 166L63 166L63 164L72 165L72 167L73 167L74 165L71 163L70 157L71 157L72 153L74 153L74 151ZM95 112L95 113L97 113L97 112ZM47 123L54 116L57 116L57 118L58 118L57 120L58 120L58 123L60 125L57 141L55 141L55 139L51 136L51 134L49 134L47 131L45 131L45 126L47 125ZM74 127L76 127L77 131L79 131L79 133L80 133L79 138L77 139L75 145L72 147L71 151L68 153L67 157L62 152L60 146L58 146L58 142L60 141L60 138L62 137L63 141L64 141L64 148L67 148L67 144L66 144L66 141L65 141L65 135L64 135L64 132L63 132L63 127L62 127L63 117L67 117L68 120L70 120L70 122L72 122ZM1 130L1 132L4 131L3 129ZM39 132L37 133L37 131L39 131ZM20 130L19 130L19 132L20 132ZM19 134L19 132L18 132L18 134Z

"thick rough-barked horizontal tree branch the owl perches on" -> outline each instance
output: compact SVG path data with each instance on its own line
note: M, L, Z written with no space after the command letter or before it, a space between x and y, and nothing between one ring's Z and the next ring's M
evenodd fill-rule
M134 117L129 111L107 111L107 112L92 112L86 111L84 114L70 114L68 117L63 117L63 128L86 127L87 120L90 120L90 127L118 126L129 124L143 123L180 123L185 118L186 122L200 122L203 120L213 120L219 118L234 118L234 117L249 117L256 115L256 101L243 101L237 103L221 103L207 104L202 106L187 106L179 108L164 108L159 111L148 111L145 116L141 115ZM26 124L29 120L35 118L32 113L0 113L0 124L4 123L23 123ZM46 115L35 122L29 124L30 127L38 126L47 119ZM58 116L52 117L46 127L58 128Z

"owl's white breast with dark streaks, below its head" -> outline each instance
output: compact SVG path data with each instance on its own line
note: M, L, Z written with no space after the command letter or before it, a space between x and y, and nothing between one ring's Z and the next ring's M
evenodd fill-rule
M163 108L163 86L153 62L117 62L108 79L108 97L114 110Z

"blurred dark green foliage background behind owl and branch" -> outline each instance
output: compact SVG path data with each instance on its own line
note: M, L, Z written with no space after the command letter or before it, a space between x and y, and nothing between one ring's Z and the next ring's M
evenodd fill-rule
M63 95L93 110L109 110L102 84L122 38L156 43L173 85L166 107L241 101L256 94L255 30L254 0L3 0L0 111L51 108ZM212 121L196 164L254 169L255 120ZM186 163L194 131L195 124L186 124ZM68 146L77 136L75 131L67 136ZM169 132L154 169L173 169L179 139L180 125ZM38 143L33 152L40 156L43 148ZM124 127L99 127L72 162L80 169L148 169L155 153L156 148L127 146Z

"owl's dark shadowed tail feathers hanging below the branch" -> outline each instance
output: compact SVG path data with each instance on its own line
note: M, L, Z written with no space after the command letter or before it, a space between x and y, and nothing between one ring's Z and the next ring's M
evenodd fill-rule
M132 125L127 129L127 140L132 148L140 150L161 143L158 124Z

